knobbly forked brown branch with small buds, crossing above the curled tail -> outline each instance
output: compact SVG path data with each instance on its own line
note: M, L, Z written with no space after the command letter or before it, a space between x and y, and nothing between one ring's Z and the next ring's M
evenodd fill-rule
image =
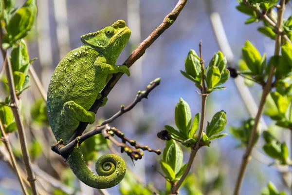
M130 103L127 107L121 106L120 111L118 111L115 115L113 115L112 117L110 117L109 119L104 120L100 125L96 126L94 129L92 129L91 131L83 134L82 136L78 136L75 139L73 139L72 141L66 143L66 145L61 141L58 144L55 144L52 146L52 150L63 156L65 159L71 154L71 152L73 151L74 147L77 145L80 145L83 141L85 141L86 139L95 136L97 134L103 133L103 135L110 139L111 141L113 141L115 143L115 145L117 145L118 147L122 147L123 149L128 148L128 145L126 144L120 144L120 142L116 141L112 136L116 135L119 138L121 138L123 140L123 142L125 141L128 142L131 146L134 146L136 149L142 149L142 150L148 150L149 152L155 152L156 154L160 154L160 151L155 151L152 150L150 148L146 148L146 146L141 146L139 144L137 144L136 142L134 142L133 140L128 139L127 137L124 136L124 134L122 132L120 132L119 130L115 129L115 128L111 128L108 124L110 122L112 122L113 120L115 120L116 118L122 116L124 113L130 111L132 108L134 108L134 106L140 102L143 98L148 98L149 93L158 85L160 84L160 78L156 78L155 80L151 81L149 85L147 85L146 90L145 91L139 91L138 94L136 95L136 98L134 99L134 101L132 103ZM111 130L113 132L109 134L109 132L105 132L104 130ZM130 147L131 148L131 147ZM126 149L128 150L128 149ZM141 158L143 155L140 152L137 152L136 150L133 150L135 154L137 154L138 156L135 157L136 155L134 155L133 153L133 158L136 160L136 158ZM123 152L123 151L122 151ZM125 151L127 152L127 151ZM132 154L132 152L127 152L127 154ZM130 155L129 155L130 156Z

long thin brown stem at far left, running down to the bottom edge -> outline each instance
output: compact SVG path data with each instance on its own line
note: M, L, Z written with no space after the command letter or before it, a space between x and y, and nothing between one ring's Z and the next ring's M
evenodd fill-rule
M37 189L36 189L36 183L35 183L36 177L32 170L31 161L28 154L27 143L26 143L26 138L24 134L24 127L23 127L20 113L19 113L19 107L18 107L19 101L15 93L14 80L12 76L12 67L11 67L10 59L7 52L6 52L4 64L6 66L6 76L8 80L8 86L9 86L10 97L11 97L11 106L12 106L11 109L15 118L17 129L18 129L21 152L23 155L24 165L27 172L27 176L28 176L27 180L30 182L33 195L37 195Z

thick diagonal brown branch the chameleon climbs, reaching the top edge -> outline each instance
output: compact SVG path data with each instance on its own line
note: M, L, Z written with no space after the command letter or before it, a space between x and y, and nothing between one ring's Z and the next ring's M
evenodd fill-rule
M183 10L184 5L186 4L187 0L179 0L174 9L167 14L164 17L163 22L144 40L142 41L138 47L132 52L132 54L128 57L128 59L123 63L124 65L127 65L128 67L131 67L135 61L137 61L139 58L141 58L146 49L157 39L159 38L162 33L169 28L173 22L177 19L180 12ZM118 80L122 77L122 73L114 74L112 78L110 79L109 83L105 86L105 88L102 90L102 98L107 97L112 90L112 88L115 86L115 84L118 82ZM102 99L101 98L101 99ZM99 107L101 106L101 100L96 100L94 104L91 106L90 111L96 113ZM81 122L75 132L73 133L72 137L69 139L68 142L71 142L76 137L82 135L84 130L86 129L88 123Z

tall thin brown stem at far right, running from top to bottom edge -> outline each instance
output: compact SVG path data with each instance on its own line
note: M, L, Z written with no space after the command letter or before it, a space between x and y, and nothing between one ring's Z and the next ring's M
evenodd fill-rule
M285 0L281 0L280 1L280 5L281 5L281 8L278 9L278 20L277 20L278 30L282 28L283 13L284 13L284 10L285 10ZM281 47L281 34L277 33L274 56L278 56L279 55L280 47ZM239 173L238 173L238 176L237 176L236 187L235 187L235 190L234 190L234 195L238 195L239 192L240 192L241 183L242 183L243 177L245 175L245 171L246 171L247 165L248 165L248 163L250 162L250 160L252 158L251 153L252 153L252 150L253 150L253 147L254 147L254 142L255 142L255 139L256 139L257 125L258 125L259 120L260 120L260 118L262 116L266 98L267 98L268 94L270 93L270 90L271 90L271 87L272 87L272 81L273 81L275 70L276 70L276 67L274 65L272 65L271 70L270 70L270 74L269 74L269 77L268 77L268 80L267 80L267 83L265 84L265 86L263 88L263 94L262 94L262 97L260 99L260 103L259 103L259 106L258 106L258 111L257 111L256 118L255 118L255 124L253 126L253 130L252 130L252 133L251 133L251 136L250 136L250 139L249 139L249 143L248 143L248 146L246 148L245 154L242 157Z

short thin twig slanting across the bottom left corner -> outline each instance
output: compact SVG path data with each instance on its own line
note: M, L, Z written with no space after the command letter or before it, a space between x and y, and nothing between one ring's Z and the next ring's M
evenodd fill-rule
M2 139L2 141L4 143L4 145L5 145L5 148L6 148L7 152L8 152L8 154L9 154L13 170L15 171L15 174L16 174L16 176L18 178L18 181L19 181L20 187L22 189L22 192L23 192L24 195L28 195L27 191L26 191L26 188L24 186L24 183L22 181L22 178L19 175L17 162L16 162L15 156L14 156L14 154L12 152L12 148L11 148L10 142L9 142L7 136L6 136L5 131L4 131L4 127L3 127L1 119L0 119L0 133L1 133L1 136L2 136L1 139Z

